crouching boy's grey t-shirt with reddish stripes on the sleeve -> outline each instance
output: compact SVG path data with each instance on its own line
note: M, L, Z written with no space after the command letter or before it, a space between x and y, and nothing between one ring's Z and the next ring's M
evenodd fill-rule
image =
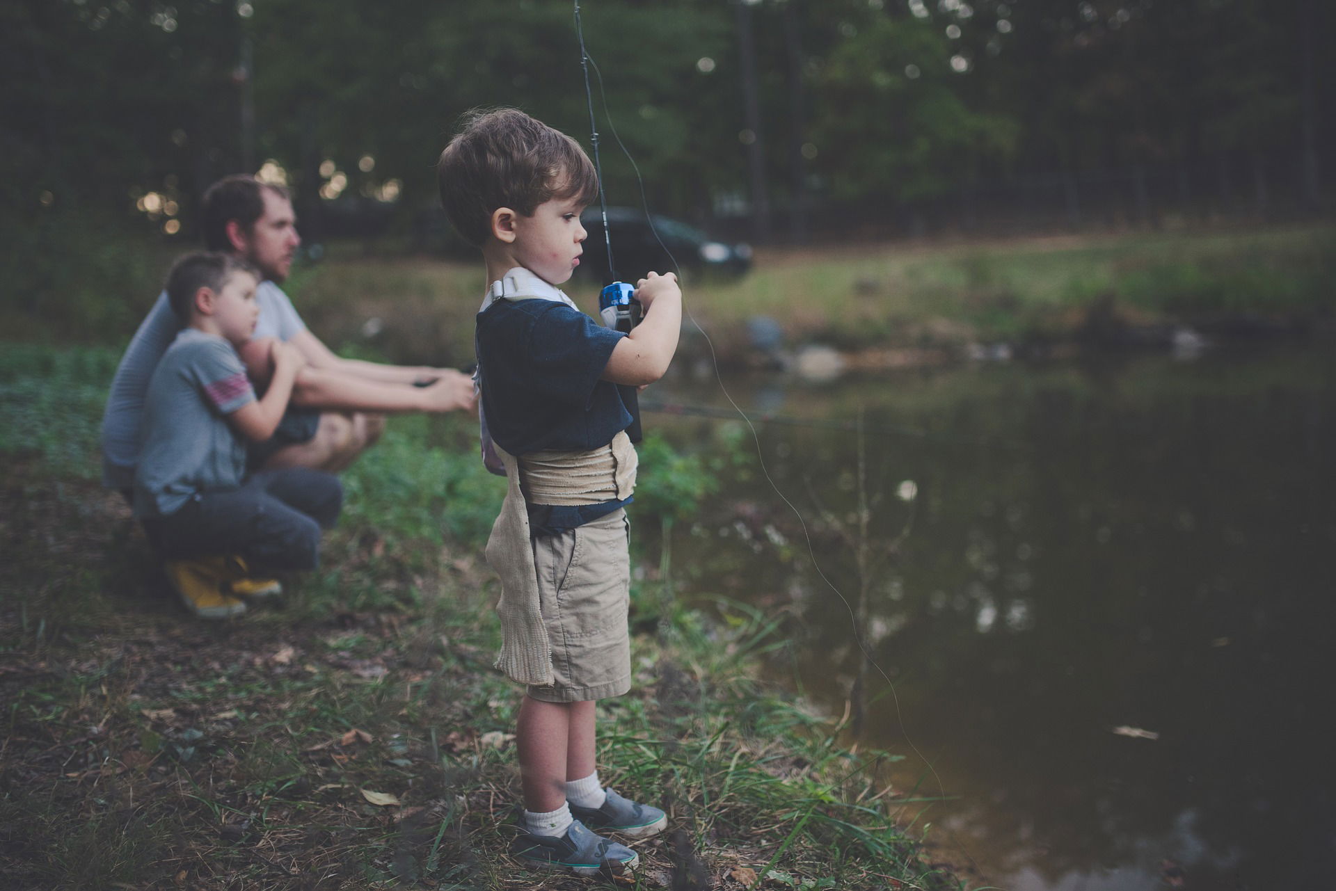
M196 492L239 486L246 442L227 415L254 401L246 367L227 341L182 330L144 395L135 516L166 517Z

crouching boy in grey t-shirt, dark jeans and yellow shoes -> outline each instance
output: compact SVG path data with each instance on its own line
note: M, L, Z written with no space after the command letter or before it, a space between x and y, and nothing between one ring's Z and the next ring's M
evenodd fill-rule
M321 528L334 524L343 500L338 480L315 470L246 477L247 441L274 434L302 366L295 347L274 341L269 389L255 397L236 350L255 333L258 285L254 267L238 256L180 258L167 278L167 298L184 327L144 398L135 517L167 558L182 601L204 618L246 610L218 578L244 578L247 562L262 570L313 569ZM210 560L219 564L216 572L191 573Z

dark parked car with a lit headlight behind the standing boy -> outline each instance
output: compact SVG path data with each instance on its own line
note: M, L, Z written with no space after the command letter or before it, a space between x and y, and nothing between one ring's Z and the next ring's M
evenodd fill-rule
M580 271L607 285L613 281L613 274L608 269L603 212L599 207L591 207L581 214L580 223L589 232L580 258ZM608 228L612 232L616 274L621 281L635 282L651 271L671 273L673 260L692 273L741 275L751 269L751 246L717 242L695 226L659 214L647 219L644 211L633 207L609 207Z

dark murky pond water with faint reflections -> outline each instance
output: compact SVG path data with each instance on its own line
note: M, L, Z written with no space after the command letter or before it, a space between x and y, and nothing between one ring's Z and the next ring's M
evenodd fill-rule
M752 473L675 529L679 594L791 614L774 675L838 716L866 590L860 744L906 756L898 793L950 799L899 818L971 886L1332 887L1329 351L727 386L802 421L758 422L762 454L840 593ZM704 375L644 399L728 409ZM707 452L739 429L647 426Z

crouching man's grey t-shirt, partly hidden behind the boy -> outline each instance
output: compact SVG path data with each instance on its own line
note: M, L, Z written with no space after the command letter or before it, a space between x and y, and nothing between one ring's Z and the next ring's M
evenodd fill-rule
M290 341L306 325L293 309L282 289L274 282L262 282L255 290L259 321L255 337L274 337ZM116 377L111 381L107 407L102 415L102 481L112 489L130 489L135 484L135 465L139 462L139 425L144 413L144 394L163 353L171 346L182 322L176 318L167 293L148 311L135 337L126 349Z

